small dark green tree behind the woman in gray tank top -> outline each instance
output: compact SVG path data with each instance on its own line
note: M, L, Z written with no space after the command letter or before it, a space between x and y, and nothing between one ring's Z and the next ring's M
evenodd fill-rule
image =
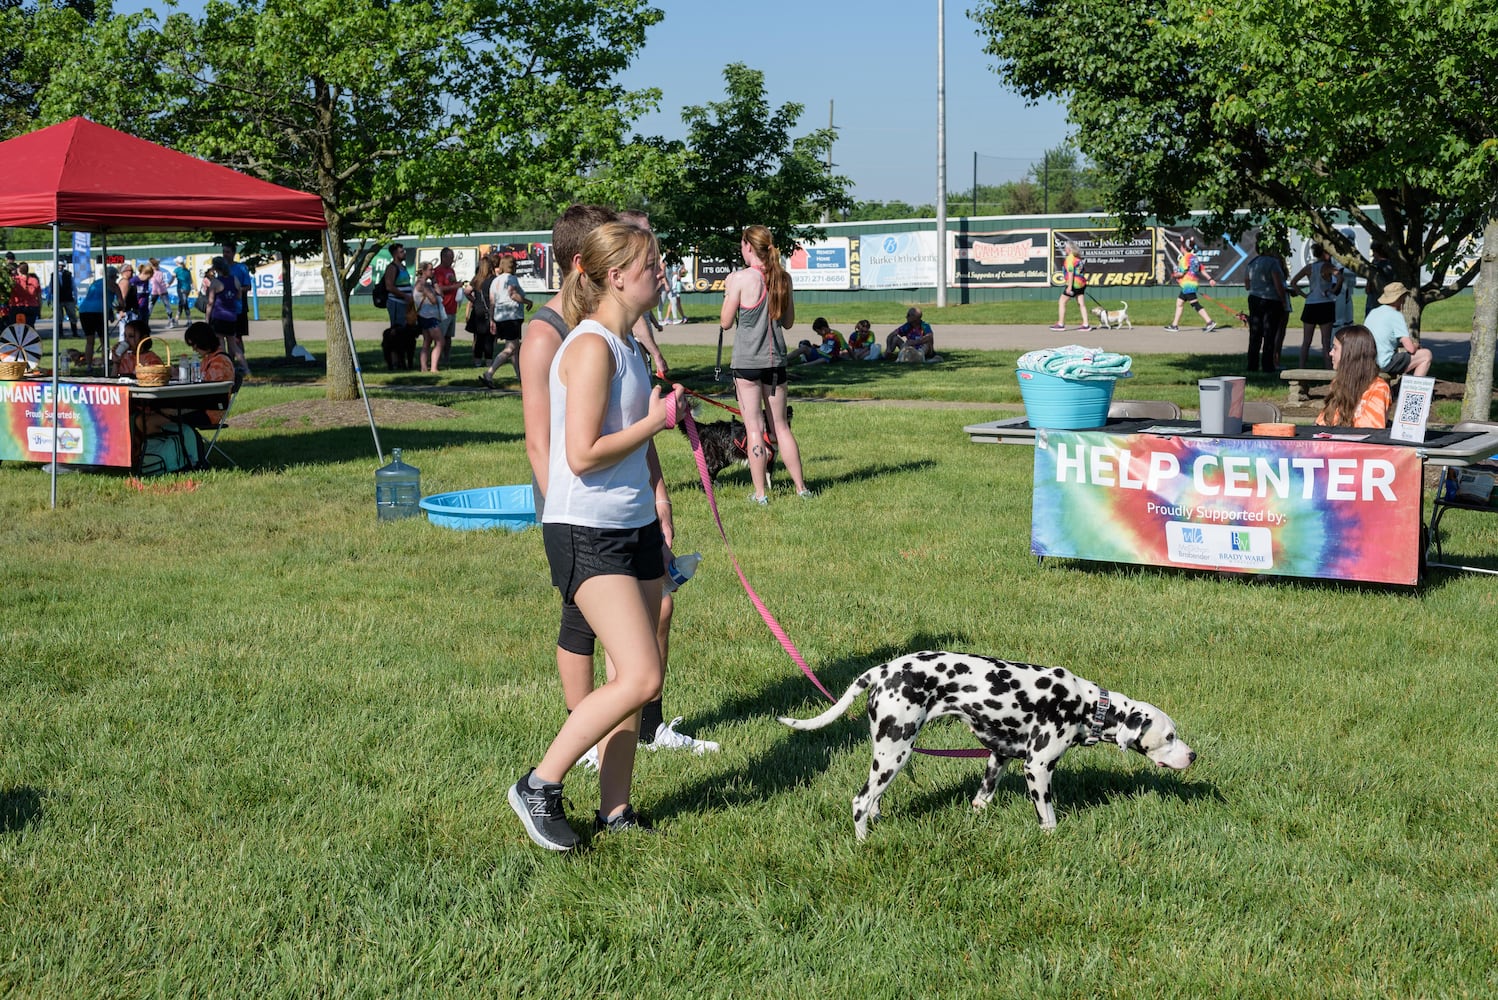
M792 139L801 105L771 112L764 73L742 63L724 67L724 81L727 100L682 111L682 175L650 207L667 251L736 259L740 234L753 223L768 226L786 249L824 235L807 223L852 207L848 178L825 165L836 132Z

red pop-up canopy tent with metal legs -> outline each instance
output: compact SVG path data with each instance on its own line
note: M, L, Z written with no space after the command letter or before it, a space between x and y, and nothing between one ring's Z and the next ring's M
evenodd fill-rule
M4 165L0 168L0 226L51 226L54 260L63 228L100 234L321 229L330 254L333 250L322 199L316 195L261 181L87 118L69 118L0 142L0 163ZM343 328L369 410L374 454L383 463L342 289L339 301L345 302ZM52 362L55 394L55 320ZM55 452L52 506L57 506Z

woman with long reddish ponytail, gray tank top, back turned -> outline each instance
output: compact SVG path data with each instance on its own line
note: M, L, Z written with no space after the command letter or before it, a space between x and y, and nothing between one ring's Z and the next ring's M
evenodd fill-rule
M745 263L724 281L724 308L719 325L734 332L734 394L743 412L749 476L753 493L749 500L770 503L770 448L765 424L771 427L774 448L785 470L791 473L795 496L812 497L801 475L801 449L791 434L791 418L785 398L785 332L795 325L795 302L791 296L791 275L780 266L780 251L764 226L745 229L739 244ZM767 419L768 418L768 419Z

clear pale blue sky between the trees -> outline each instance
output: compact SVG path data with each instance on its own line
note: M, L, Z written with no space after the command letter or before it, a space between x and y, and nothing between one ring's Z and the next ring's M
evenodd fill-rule
M361 1L361 0L351 0ZM658 87L643 135L685 138L682 108L724 99L724 66L764 72L770 103L804 106L794 135L837 126L833 163L860 201L936 201L936 9L941 0L653 0L665 18L622 82ZM968 6L947 0L947 190L1014 180L1067 136L1059 105L1026 108L983 54ZM117 0L120 12L153 7ZM184 10L202 3L180 0Z

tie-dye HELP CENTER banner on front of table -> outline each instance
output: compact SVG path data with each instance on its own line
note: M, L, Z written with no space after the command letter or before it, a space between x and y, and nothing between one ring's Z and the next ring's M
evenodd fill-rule
M1345 440L1035 433L1035 555L1414 584L1420 457Z

